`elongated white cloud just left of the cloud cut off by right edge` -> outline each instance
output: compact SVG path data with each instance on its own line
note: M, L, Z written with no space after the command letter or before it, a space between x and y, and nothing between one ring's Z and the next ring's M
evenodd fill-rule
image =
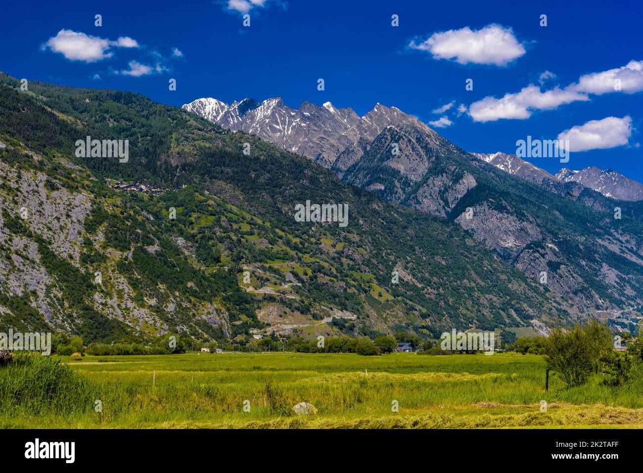
M536 85L528 85L515 94L505 94L502 98L485 97L469 105L469 115L474 121L495 121L501 118L529 118L533 110L556 109L564 103L589 100L585 94L554 87L541 92Z

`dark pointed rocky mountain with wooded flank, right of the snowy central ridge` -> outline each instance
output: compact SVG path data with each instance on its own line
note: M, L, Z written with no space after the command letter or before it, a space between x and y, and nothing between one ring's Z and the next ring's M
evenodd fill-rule
M607 207L590 211L563 197L569 184L548 179L524 161L511 165L514 174L524 170L539 184L477 159L436 134L390 127L343 178L388 201L454 220L528 276L547 272L550 289L584 310L640 304L640 222L614 219L613 206L605 204L610 199L575 195L584 204L593 200L592 208Z

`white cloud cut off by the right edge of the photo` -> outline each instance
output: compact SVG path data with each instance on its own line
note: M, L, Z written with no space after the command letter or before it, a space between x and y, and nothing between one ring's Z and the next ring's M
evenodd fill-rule
M578 84L570 87L596 95L619 91L633 94L643 91L643 61L629 61L627 66L583 75Z

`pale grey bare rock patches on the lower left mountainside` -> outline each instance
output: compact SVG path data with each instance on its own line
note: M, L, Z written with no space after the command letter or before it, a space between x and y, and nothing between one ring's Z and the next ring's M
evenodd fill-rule
M72 186L68 188L62 181L57 181L55 189L52 190L51 186L48 188L46 183L48 179L52 179L51 175L44 174L35 166L36 161L45 158L29 150L20 150L24 152L24 156L33 159L33 168L25 165L18 170L0 160L0 183L3 184L0 188L0 209L5 210L0 211L0 247L7 252L6 256L0 258L0 292L26 298L52 329L65 332L78 330L78 326L83 323L82 319L69 307L69 300L59 278L56 274L51 274L43 263L36 235L48 242L48 248L59 258L82 272L87 271L87 267L81 263L87 246L84 237L91 237L93 251L105 256L105 262L95 266L95 269L102 272L102 283L100 290L98 287L90 290L92 308L138 330L144 324L156 327L161 335L170 330L167 321L150 310L150 307L156 305L156 301L140 301L127 278L119 272L116 260L131 259L131 252L121 253L104 247L105 224L97 229L95 235L88 235L87 219L91 210L100 203L91 193ZM89 179L88 173L84 170L80 172L80 176ZM19 190L17 195L14 195L14 189ZM15 233L7 226L6 218L19 218L30 233ZM177 242L181 249L188 256L194 257L194 248L182 238L177 239L182 240ZM154 253L159 246L153 244L147 249ZM194 301L185 296L172 294L168 299L170 303L163 307L167 316L172 317L179 305L190 305L197 319L220 327L226 335L231 333L228 313L214 301L203 301L200 305L195 305ZM15 307L12 308L11 305L0 305L0 317L15 317L20 314L14 311ZM33 328L34 320L25 319L24 323L28 328Z

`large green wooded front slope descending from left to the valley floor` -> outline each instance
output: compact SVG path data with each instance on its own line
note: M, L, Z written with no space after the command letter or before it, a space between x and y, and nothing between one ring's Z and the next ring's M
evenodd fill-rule
M307 158L138 94L29 88L0 76L3 324L242 341L251 328L436 335L581 316L457 225ZM129 160L75 156L86 136L129 139ZM347 204L348 225L297 221L306 201Z

